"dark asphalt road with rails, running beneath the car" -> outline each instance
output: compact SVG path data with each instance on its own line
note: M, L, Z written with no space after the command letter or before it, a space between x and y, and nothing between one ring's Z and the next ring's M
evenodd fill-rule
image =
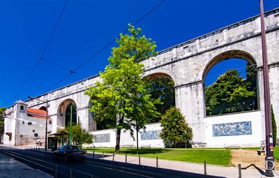
M154 168L146 165L135 165L130 163L120 163L116 161L106 161L101 159L86 158L85 161L63 161L55 159L52 154L43 151L30 151L24 149L10 149L10 156L17 161L29 165L31 168L40 169L56 177L213 177L208 175L199 175L191 172L181 172L176 170L167 170L163 168Z

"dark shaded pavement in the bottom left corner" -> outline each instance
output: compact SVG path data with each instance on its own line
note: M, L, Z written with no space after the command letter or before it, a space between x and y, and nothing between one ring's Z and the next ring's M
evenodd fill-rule
M53 176L48 175L40 170L34 170L19 161L16 161L10 156L0 154L0 177L1 178L51 178Z

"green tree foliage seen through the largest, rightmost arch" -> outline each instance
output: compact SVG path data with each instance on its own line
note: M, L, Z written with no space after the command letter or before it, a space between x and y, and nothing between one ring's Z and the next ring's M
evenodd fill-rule
M257 109L256 72L246 66L246 80L235 69L227 71L205 89L206 115Z

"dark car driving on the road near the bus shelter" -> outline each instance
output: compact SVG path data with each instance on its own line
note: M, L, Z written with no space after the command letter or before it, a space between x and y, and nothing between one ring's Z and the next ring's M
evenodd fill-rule
M76 145L64 145L59 150L53 153L55 158L63 158L65 161L70 159L80 159L84 161L86 158L86 151Z

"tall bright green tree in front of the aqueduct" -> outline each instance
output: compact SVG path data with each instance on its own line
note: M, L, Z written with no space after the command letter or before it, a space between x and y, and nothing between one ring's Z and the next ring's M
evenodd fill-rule
M110 120L116 128L115 151L120 151L121 130L137 131L149 122L149 116L159 117L155 105L160 100L151 99L146 86L148 81L142 79L144 59L155 54L155 43L145 36L140 36L141 29L129 24L130 35L120 34L116 39L118 47L112 47L112 56L105 71L100 73L102 82L96 82L85 94L91 98L91 112L98 122Z

